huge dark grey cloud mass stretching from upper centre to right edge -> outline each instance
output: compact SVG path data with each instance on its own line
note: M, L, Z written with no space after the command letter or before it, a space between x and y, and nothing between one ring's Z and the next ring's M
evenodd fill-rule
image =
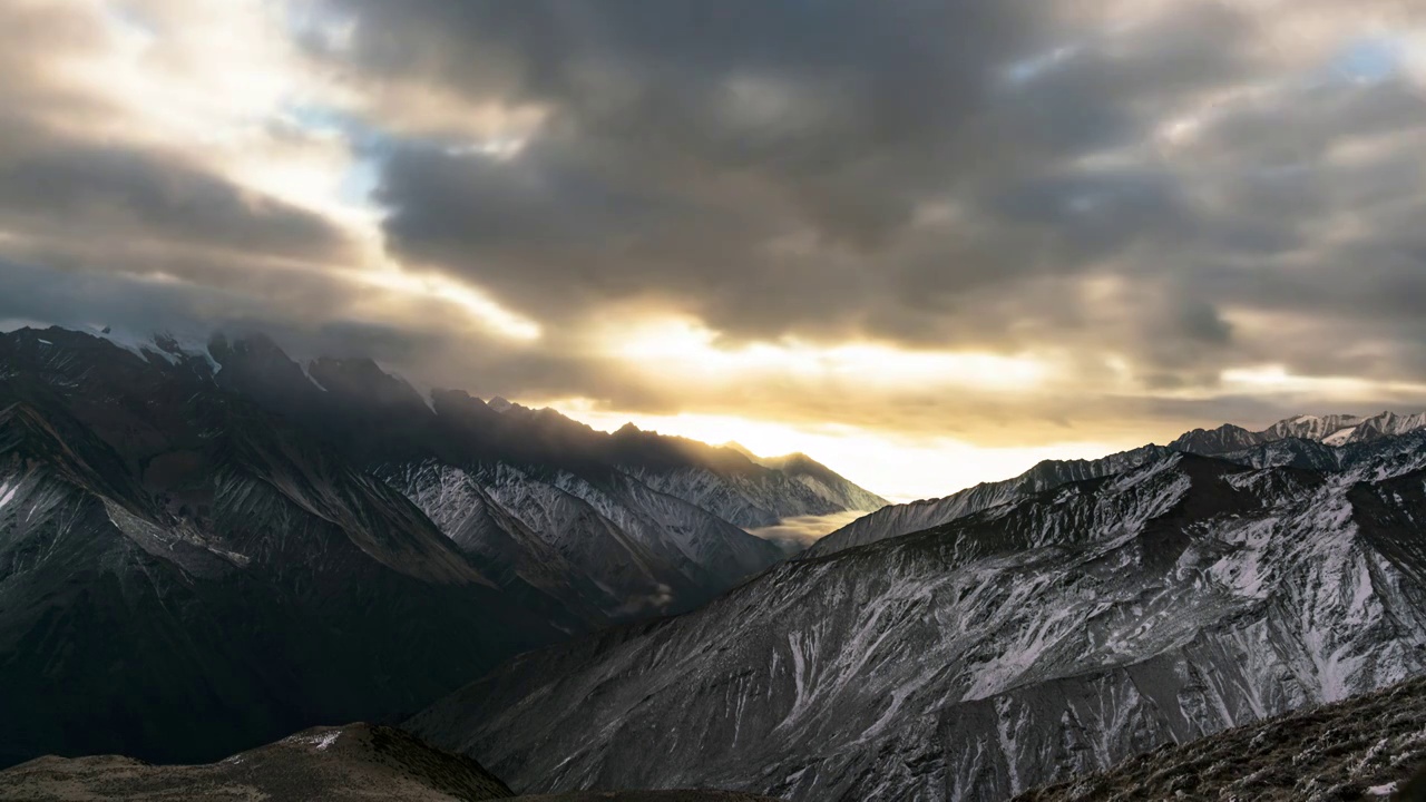
M1229 310L1350 284L1325 228L1422 196L1417 168L1387 166L1409 147L1333 158L1419 128L1417 87L1286 64L1271 21L1232 4L1132 24L988 1L335 7L368 80L548 110L516 157L412 150L381 188L401 253L546 320L645 294L733 337L1000 348L1034 345L1007 323L1060 320L1198 380L1259 357L1228 347ZM1385 211L1366 223L1396 235ZM1315 265L1278 267L1303 253ZM1369 270L1409 283L1416 251L1396 253ZM1107 274L1138 283L1132 303L1045 291Z

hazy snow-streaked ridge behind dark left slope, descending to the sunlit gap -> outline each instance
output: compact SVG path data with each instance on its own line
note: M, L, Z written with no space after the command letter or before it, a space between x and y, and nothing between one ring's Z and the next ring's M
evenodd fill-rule
M606 434L502 398L438 390L426 400L371 360L302 365L261 337L218 338L208 351L220 385L345 451L432 519L463 521L479 491L499 511L461 535L468 554L488 572L525 571L572 609L607 618L692 609L783 558L747 528L886 504L806 458L769 468L732 450L632 425ZM451 495L453 484L469 489ZM539 568L552 565L550 549L562 559L553 572ZM569 582L555 587L552 577Z

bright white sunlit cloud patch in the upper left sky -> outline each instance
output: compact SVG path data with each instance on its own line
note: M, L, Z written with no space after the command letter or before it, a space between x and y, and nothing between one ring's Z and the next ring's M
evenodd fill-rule
M73 0L88 14L93 46L58 50L53 80L101 98L103 114L47 120L76 136L135 144L205 166L241 187L364 224L341 183L349 144L285 113L338 88L287 36L277 3Z

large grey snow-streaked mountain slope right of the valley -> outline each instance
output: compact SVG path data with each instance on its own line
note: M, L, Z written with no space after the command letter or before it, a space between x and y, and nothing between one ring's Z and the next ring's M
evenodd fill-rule
M1007 799L1426 671L1426 432L1350 450L1145 455L518 656L408 726L540 791Z

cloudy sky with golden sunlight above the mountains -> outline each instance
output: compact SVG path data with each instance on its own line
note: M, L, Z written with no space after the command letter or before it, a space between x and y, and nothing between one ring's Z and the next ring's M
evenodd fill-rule
M0 0L0 325L893 499L1426 408L1416 0Z

